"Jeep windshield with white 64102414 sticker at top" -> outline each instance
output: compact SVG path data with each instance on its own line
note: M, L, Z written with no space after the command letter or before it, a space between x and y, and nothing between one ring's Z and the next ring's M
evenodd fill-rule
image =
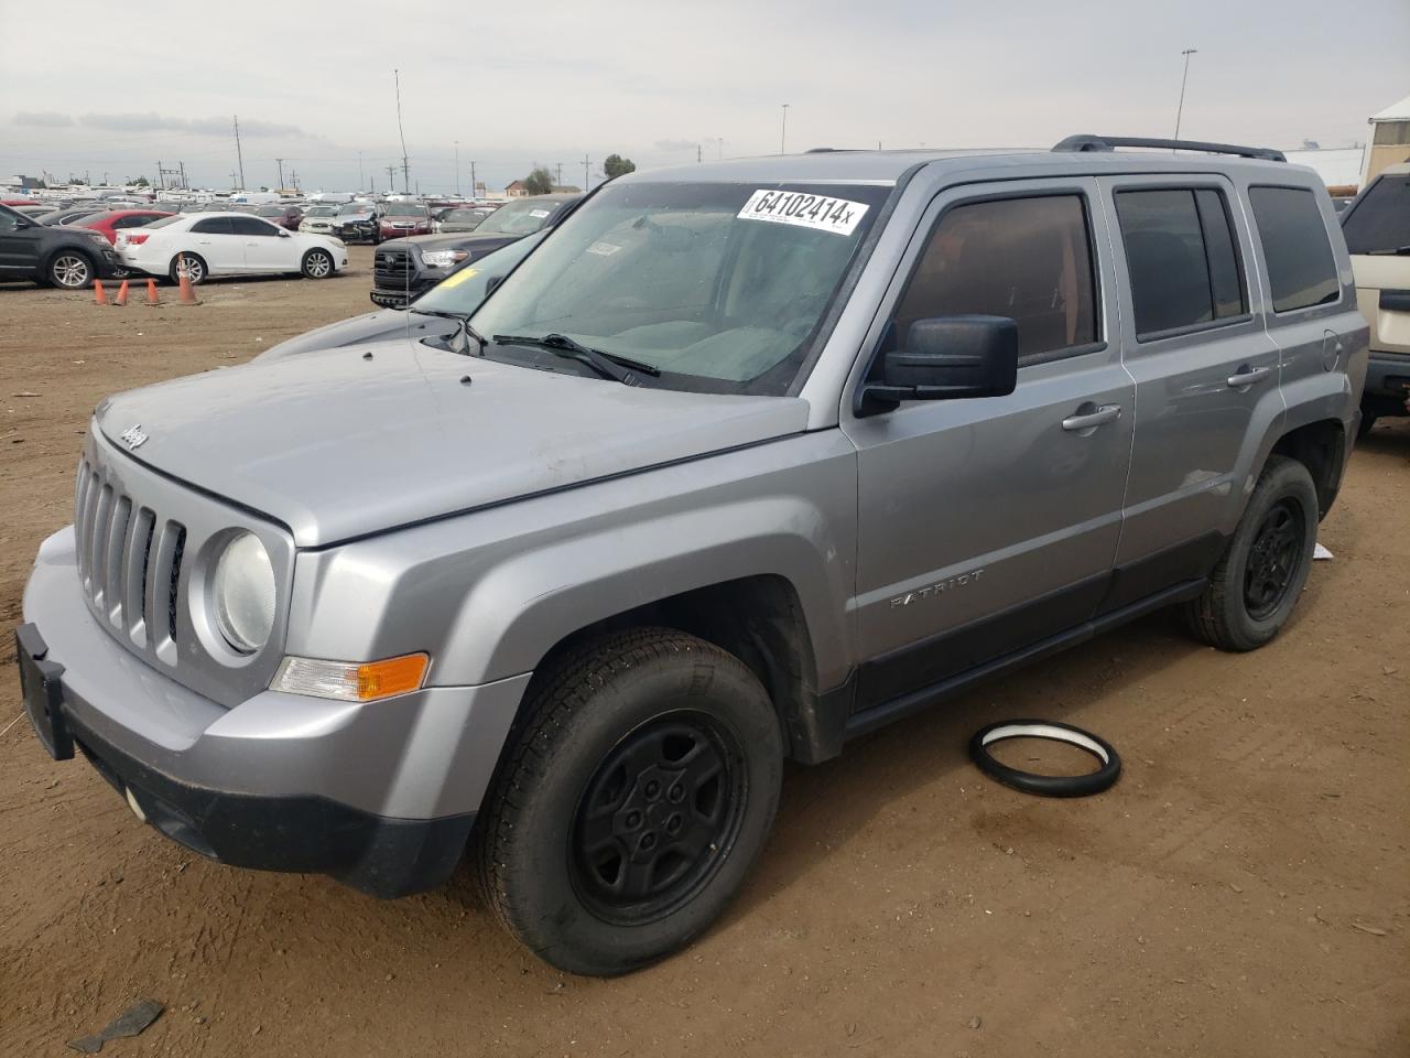
M783 394L888 193L877 185L609 186L471 324L485 337L567 334L658 368L653 385ZM488 354L527 355L506 344Z

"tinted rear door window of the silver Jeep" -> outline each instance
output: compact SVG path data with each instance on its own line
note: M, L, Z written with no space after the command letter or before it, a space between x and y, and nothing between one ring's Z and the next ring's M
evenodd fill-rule
M1224 195L1208 188L1118 190L1136 337L1248 312Z

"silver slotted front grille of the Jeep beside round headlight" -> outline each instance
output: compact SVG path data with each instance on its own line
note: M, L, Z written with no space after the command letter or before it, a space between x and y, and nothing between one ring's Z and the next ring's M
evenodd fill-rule
M186 526L142 506L83 460L73 533L93 612L138 647L152 642L159 657L175 663Z

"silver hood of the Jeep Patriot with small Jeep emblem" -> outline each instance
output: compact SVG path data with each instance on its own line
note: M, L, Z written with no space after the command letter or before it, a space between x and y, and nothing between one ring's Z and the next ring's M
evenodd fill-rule
M808 405L626 387L398 340L179 378L109 398L94 416L117 450L140 425L147 442L133 458L317 547L799 433Z

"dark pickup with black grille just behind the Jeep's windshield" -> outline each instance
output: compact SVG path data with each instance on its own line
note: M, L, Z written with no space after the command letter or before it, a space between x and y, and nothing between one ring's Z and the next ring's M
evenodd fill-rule
M372 303L405 308L470 261L553 227L581 200L581 195L539 195L501 206L474 231L388 240L372 258Z

